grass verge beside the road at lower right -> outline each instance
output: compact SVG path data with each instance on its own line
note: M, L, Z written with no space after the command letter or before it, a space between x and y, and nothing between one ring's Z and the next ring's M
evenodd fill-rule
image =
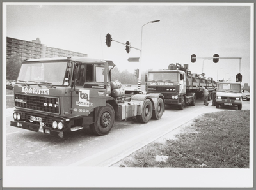
M150 143L115 166L249 168L249 110L206 113L175 136L164 143Z

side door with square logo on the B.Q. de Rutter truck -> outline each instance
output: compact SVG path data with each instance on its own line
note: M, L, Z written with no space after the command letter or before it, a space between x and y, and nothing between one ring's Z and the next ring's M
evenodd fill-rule
M99 106L106 106L108 64L86 63L76 66L72 114L89 115Z

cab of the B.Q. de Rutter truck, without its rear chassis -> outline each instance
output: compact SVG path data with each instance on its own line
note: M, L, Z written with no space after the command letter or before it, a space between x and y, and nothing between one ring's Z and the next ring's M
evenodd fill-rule
M83 115L91 116L83 125L92 124L90 113L106 106L111 93L109 80L108 62L99 59L23 61L13 90L16 109L11 125L62 137L65 130L78 129Z

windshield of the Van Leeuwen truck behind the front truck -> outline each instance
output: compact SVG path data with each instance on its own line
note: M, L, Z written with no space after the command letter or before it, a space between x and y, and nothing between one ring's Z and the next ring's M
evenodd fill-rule
M148 81L179 82L179 73L165 73L165 72L148 73Z

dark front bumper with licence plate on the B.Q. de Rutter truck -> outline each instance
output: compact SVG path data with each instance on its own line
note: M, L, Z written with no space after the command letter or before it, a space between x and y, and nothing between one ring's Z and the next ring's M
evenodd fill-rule
M34 131L38 133L44 133L45 135L59 136L60 138L64 137L63 131L53 131L47 126L40 126L38 124L28 123L24 121L11 121L11 126L21 129L27 129L29 131Z

